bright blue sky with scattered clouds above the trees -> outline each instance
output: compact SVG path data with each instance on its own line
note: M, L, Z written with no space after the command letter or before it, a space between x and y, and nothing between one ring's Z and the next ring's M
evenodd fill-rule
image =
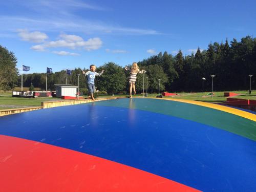
M255 36L256 1L0 2L0 45L26 73L120 66L159 52L191 54L209 42Z

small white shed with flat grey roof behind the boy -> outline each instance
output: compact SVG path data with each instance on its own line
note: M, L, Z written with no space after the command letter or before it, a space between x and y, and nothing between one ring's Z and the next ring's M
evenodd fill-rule
M72 86L72 84L54 84L56 86L56 97L62 96L69 96L75 97L76 96L76 89L77 86Z

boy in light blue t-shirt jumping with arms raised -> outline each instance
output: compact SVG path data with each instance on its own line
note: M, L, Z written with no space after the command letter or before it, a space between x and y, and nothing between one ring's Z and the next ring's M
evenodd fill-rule
M87 76L88 92L89 92L89 96L91 96L91 98L93 100L94 100L93 93L95 92L94 78L95 78L95 76L102 75L102 73L104 72L104 70L102 70L100 73L96 73L95 70L96 70L95 65L91 65L90 71L88 71L88 72L84 72L82 70L82 73Z

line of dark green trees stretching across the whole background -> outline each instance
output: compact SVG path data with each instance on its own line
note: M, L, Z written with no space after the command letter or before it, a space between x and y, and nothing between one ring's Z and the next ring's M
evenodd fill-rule
M1 47L1 49L4 49ZM17 74L16 58L11 52L4 52L12 58L11 62L3 62L0 52L0 66L9 66L9 74L2 76L6 72L1 67L0 88L12 89L15 84L21 85L20 75ZM148 84L148 92L158 92L160 79L160 91L170 92L200 92L202 91L202 77L204 81L204 91L211 90L212 78L214 77L214 91L234 91L249 90L250 77L249 74L256 76L256 38L246 36L241 41L233 39L228 43L214 42L208 45L207 50L197 52L190 55L183 55L179 50L177 55L160 52L158 55L138 61L140 69L146 70L144 75L144 86L146 89L146 79ZM104 69L104 73L100 77L95 78L95 84L98 90L106 91L108 94L123 93L128 90L129 72L114 62L107 62L103 66L99 66L96 71ZM79 88L86 88L86 77L81 72L82 69L76 68L68 75L68 83L78 85ZM83 69L86 70L86 69ZM8 70L7 70L8 71ZM252 89L255 85L255 76L252 77ZM147 77L147 78L146 78ZM6 79L6 80L3 80ZM8 81L8 79L11 79ZM24 87L30 87L33 83L34 87L42 90L46 89L46 74L33 73L23 75ZM8 83L7 83L8 82ZM48 74L48 89L55 90L54 84L66 83L66 71ZM143 90L143 75L137 75L136 89L138 92Z

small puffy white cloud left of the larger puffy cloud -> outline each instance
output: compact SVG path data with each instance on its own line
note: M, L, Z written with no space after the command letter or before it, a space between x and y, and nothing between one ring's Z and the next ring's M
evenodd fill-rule
M19 29L18 31L18 35L25 41L43 42L48 38L47 34L39 31L29 32L27 29Z

